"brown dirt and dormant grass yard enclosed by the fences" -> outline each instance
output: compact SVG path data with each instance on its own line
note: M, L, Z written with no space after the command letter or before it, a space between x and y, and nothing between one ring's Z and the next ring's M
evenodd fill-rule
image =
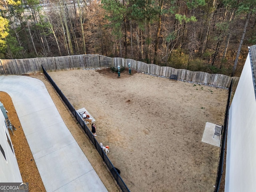
M130 191L214 191L220 148L201 140L206 122L223 124L228 90L127 70L49 74L95 118L96 139Z

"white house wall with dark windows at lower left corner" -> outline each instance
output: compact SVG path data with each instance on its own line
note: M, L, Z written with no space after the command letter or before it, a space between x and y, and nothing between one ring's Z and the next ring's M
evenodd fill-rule
M16 156L13 148L11 148L12 142L10 146L7 139L11 142L4 114L0 110L0 145L6 157L5 159L2 152L0 152L0 182L22 182Z

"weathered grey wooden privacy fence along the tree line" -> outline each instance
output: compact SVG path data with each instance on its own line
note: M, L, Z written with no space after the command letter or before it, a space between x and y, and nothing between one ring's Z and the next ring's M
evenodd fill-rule
M110 58L102 55L73 55L61 57L28 58L28 59L0 59L0 75L24 75L42 73L41 65L47 72L78 70L87 68L128 67L147 74L169 78L176 75L178 80L207 84L228 88L233 79L234 85L239 77L230 77L222 74L209 74L206 72L175 69L172 67L146 64L141 61L125 58Z

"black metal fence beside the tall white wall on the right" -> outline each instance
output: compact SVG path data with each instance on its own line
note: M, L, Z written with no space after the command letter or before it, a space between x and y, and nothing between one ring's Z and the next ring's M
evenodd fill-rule
M228 113L229 113L229 107L230 107L232 85L233 85L233 80L231 81L229 90L228 90L228 101L226 105L225 120L223 125L221 150L220 150L220 162L219 162L219 168L218 168L218 175L216 179L215 192L218 192L220 189L220 183L221 183L222 174L223 174L223 164L224 164L225 150L226 150L226 138L227 138L227 132L228 132Z

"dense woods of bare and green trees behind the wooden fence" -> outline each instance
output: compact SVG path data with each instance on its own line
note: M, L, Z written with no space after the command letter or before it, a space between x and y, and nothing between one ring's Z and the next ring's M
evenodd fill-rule
M240 76L255 0L0 0L0 58L100 54Z

